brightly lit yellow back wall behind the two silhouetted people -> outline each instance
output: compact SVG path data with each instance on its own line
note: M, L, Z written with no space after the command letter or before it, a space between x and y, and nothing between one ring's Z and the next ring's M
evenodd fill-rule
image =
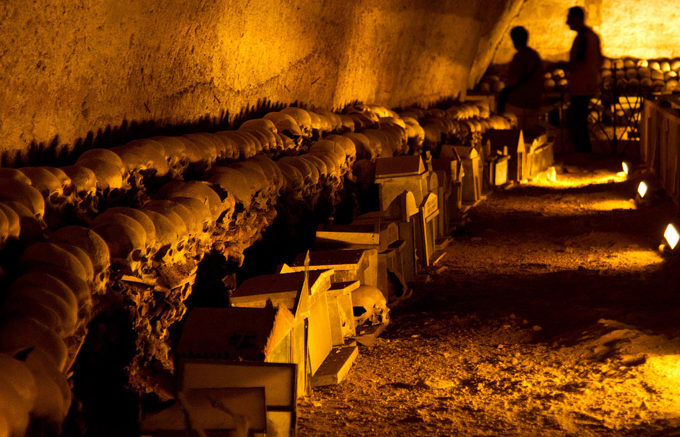
M529 45L545 60L566 60L575 33L566 26L571 6L585 9L586 22L600 34L605 56L680 56L680 8L668 0L528 0L511 27L529 31ZM511 60L515 50L506 33L494 64Z

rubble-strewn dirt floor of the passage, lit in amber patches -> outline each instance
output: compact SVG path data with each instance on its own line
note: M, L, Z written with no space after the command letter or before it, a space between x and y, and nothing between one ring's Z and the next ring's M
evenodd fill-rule
M471 209L300 436L680 436L673 207L636 208L620 161L557 169Z

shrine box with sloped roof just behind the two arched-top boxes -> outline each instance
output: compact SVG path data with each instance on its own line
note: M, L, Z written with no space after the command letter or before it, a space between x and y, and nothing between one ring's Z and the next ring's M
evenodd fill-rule
M415 196L420 205L428 194L428 175L420 156L394 156L375 160L375 183L378 185L380 209L385 210L404 190Z

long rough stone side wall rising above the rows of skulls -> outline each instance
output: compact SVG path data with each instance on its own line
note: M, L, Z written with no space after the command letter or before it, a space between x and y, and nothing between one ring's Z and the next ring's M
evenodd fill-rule
M263 101L456 97L480 17L505 1L6 0L3 165L131 124L224 123Z

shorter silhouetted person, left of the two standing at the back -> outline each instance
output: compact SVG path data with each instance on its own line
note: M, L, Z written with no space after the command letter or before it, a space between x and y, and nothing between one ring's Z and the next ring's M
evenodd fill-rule
M524 27L513 27L510 37L517 53L510 63L507 86L498 99L499 110L506 109L514 113L524 135L536 137L539 134L543 61L536 50L527 46L529 33Z

